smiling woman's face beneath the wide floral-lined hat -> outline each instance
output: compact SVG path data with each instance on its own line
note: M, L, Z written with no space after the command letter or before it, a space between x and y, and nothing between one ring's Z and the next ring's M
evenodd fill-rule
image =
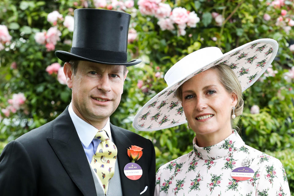
M231 111L236 103L236 94L225 90L217 70L208 69L182 85L182 106L196 136L231 131Z

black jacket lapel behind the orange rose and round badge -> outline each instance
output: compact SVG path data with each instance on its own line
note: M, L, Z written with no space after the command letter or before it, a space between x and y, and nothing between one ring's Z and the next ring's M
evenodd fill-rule
M123 195L135 196L140 195L140 183L138 180L128 179L123 171L126 164L130 163L130 158L127 154L127 149L131 147L132 142L122 131L116 126L110 124L111 137L117 148L117 161L119 164L120 181L122 185Z

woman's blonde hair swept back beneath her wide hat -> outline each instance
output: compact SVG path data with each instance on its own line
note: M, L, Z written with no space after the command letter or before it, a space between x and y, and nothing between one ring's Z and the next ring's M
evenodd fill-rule
M237 104L235 108L235 115L239 116L243 113L243 105L244 101L242 98L242 88L239 83L238 77L234 73L234 71L225 64L218 64L213 66L209 69L217 70L219 74L220 83L224 86L228 93L235 93L237 96ZM182 84L183 85L183 84ZM176 90L175 95L176 97L182 101L182 85ZM233 114L233 110L231 115Z

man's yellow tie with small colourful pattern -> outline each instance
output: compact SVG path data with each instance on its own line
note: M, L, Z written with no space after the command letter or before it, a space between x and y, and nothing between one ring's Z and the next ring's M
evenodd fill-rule
M101 142L92 157L91 166L103 184L104 194L106 194L108 183L114 175L117 150L104 130L98 130L95 138L100 139Z

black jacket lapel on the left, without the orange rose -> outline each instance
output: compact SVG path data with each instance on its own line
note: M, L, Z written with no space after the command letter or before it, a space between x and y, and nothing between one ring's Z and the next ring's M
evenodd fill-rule
M53 137L47 138L66 172L85 196L96 195L89 162L68 107L53 123Z

